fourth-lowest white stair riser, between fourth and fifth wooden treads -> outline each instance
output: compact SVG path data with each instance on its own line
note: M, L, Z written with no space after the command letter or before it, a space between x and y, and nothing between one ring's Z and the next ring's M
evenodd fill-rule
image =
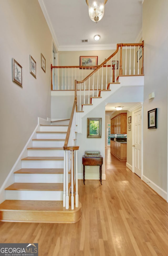
M59 149L41 149L41 150L36 150L36 149L29 149L28 150L28 156L64 156L64 150L59 150Z

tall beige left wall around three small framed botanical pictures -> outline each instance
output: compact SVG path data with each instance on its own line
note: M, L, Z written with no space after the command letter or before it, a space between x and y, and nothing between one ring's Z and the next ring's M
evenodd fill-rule
M38 117L51 116L52 37L38 0L5 0L1 17L0 187L34 131ZM46 73L41 69L41 53ZM29 73L36 61L36 79ZM12 81L12 58L23 67L23 88Z

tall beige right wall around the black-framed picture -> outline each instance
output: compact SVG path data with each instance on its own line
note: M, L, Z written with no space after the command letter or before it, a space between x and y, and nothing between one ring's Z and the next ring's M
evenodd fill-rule
M168 1L143 3L144 119L143 176L167 191ZM149 100L149 94L155 98ZM158 109L158 128L148 129L148 111ZM155 189L155 188L154 188Z

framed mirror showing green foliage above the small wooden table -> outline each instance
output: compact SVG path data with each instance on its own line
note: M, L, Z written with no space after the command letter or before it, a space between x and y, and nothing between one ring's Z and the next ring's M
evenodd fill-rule
M102 118L87 118L87 138L102 137Z

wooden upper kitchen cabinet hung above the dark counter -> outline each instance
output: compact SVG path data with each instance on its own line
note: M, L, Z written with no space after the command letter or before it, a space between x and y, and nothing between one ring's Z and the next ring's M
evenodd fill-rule
M111 134L127 134L127 113L120 113L111 119Z

